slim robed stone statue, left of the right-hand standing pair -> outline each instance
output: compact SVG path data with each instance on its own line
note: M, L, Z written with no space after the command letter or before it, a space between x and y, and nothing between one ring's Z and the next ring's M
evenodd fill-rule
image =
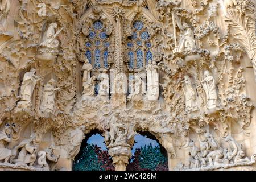
M197 110L196 93L191 84L189 76L184 76L184 88L183 93L185 96L185 111L190 113Z

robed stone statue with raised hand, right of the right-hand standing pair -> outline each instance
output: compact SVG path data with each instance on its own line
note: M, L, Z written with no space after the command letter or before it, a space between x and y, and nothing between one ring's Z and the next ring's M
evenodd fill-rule
M207 70L204 72L204 80L202 81L205 94L207 95L207 109L215 109L217 107L217 90L213 76Z

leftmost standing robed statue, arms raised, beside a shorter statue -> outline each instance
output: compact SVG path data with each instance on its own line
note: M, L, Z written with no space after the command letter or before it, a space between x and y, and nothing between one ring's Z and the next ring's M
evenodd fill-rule
M25 73L20 87L21 99L18 102L18 107L30 107L31 97L36 85L36 82L40 80L38 76L35 75L36 70L31 69L30 72Z

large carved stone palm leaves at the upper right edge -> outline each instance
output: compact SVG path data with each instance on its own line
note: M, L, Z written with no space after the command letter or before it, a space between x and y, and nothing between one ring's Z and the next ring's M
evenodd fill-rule
M255 20L249 15L242 16L236 10L229 10L225 21L229 24L230 34L238 40L254 65L256 61ZM254 69L256 69L255 66Z

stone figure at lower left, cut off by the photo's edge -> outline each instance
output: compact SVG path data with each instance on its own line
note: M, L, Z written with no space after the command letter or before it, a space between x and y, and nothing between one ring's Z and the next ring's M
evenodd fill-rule
M6 123L3 130L0 131L0 161L3 160L4 163L9 163L11 150L6 148L7 144L11 142L10 138L11 130L10 125Z

